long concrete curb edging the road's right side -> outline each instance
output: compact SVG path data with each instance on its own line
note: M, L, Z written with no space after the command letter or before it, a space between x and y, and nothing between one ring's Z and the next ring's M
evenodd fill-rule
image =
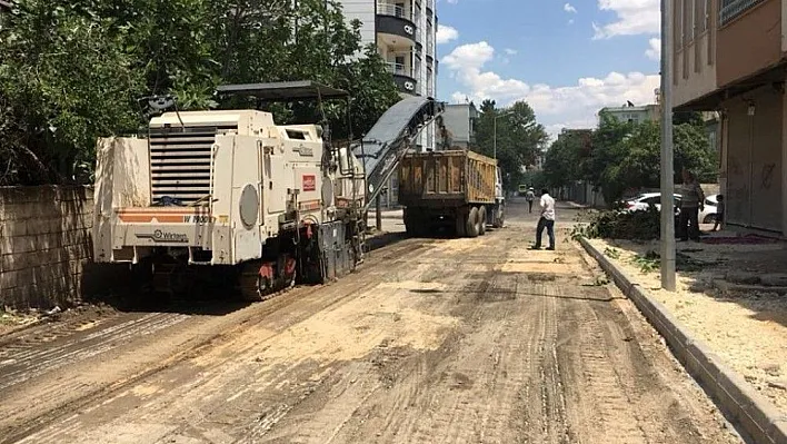
M620 290L634 302L648 322L665 338L686 371L705 387L715 403L748 433L755 443L787 444L787 415L751 388L701 341L691 336L646 289L594 247L587 239L579 243Z

